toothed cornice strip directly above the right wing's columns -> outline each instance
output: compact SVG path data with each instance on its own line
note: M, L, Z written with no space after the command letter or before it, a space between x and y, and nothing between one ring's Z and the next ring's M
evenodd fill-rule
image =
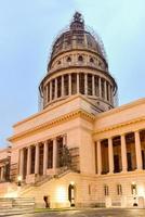
M116 124L116 125L111 125L109 127L105 127L105 128L95 130L93 132L93 136L98 135L101 132L105 132L105 131L109 131L109 130L113 130L113 129L117 129L117 128L120 128L120 127L124 127L127 125L131 125L131 124L136 124L136 123L140 123L140 122L144 122L144 120L145 120L145 116L142 116L142 117L134 118L134 119L131 119L131 120L128 120L128 122L123 122L123 123L119 123L119 124Z

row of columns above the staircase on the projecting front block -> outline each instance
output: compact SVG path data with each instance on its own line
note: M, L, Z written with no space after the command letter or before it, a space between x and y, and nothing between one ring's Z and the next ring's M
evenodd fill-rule
M58 149L63 148L65 143L66 136L62 136L21 149L19 176L25 179L30 174L47 175L48 168L55 170L58 162Z

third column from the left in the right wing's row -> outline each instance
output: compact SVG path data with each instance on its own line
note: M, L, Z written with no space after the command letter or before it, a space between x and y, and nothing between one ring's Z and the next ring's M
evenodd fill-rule
M126 146L126 136L121 135L121 159L122 159L122 171L127 171L127 146Z

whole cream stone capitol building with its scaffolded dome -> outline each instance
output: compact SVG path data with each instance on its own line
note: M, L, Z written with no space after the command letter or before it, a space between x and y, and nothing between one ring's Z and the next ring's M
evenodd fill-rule
M55 39L40 111L0 150L0 196L36 207L145 207L145 99L118 106L101 39L75 13Z

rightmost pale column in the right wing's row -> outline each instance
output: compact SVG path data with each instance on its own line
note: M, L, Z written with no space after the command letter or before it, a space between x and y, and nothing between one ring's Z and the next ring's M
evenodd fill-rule
M135 136L136 166L137 166L137 169L142 169L143 168L143 162L142 162L140 131L135 131L134 136Z

